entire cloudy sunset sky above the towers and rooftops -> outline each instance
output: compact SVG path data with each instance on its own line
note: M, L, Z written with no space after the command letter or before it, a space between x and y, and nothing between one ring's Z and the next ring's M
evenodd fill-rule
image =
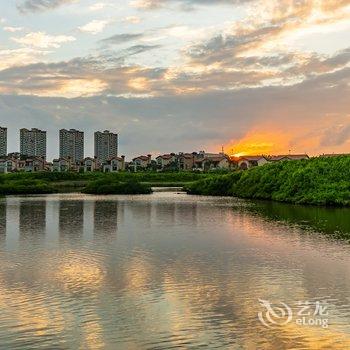
M120 154L350 153L350 0L0 2L0 126Z

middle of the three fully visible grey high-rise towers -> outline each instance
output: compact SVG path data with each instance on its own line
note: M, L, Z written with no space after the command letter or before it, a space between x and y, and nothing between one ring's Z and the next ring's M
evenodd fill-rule
M84 159L84 132L75 129L60 130L60 158L70 158L73 163Z

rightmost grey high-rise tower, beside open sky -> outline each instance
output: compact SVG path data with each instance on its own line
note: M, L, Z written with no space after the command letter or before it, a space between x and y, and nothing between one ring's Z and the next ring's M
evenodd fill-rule
M118 134L95 132L95 157L101 163L118 156Z

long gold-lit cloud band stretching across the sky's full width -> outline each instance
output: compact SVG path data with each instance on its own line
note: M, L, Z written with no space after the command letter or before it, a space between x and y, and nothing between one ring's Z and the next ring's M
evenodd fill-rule
M327 58L297 54L236 59L236 69L146 68L126 65L134 55L159 48L158 45L133 45L117 53L76 58L67 62L34 64L0 71L0 91L40 96L79 96L96 93L145 96L203 95L215 91L239 91L266 86L295 86L300 82L338 75L338 83L349 78L349 50ZM289 69L285 69L287 65ZM280 69L277 69L281 67ZM78 82L93 81L93 86ZM74 94L72 86L77 85ZM334 82L332 82L334 83ZM329 82L324 81L325 88ZM88 87L88 88L87 88Z

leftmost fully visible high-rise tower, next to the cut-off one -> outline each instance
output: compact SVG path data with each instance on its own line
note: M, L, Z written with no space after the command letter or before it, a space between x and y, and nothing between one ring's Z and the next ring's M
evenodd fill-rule
M21 155L46 158L46 131L20 130Z

